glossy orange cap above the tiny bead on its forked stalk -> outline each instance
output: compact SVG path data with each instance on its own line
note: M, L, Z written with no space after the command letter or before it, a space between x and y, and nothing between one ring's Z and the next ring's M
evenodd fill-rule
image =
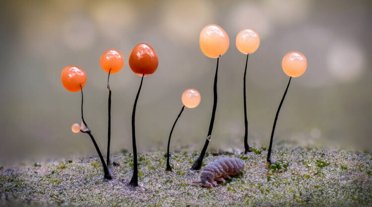
M86 74L77 66L66 66L61 74L63 86L71 92L80 91L86 83ZM81 88L80 88L81 85Z

